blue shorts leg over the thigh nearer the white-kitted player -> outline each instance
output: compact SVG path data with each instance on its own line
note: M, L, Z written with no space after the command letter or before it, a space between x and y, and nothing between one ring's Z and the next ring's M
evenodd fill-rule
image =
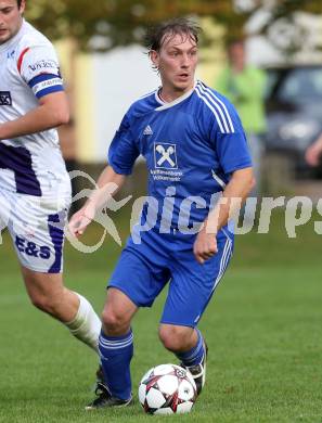
M137 307L151 307L170 274L162 264L150 261L146 251L125 248L107 287L123 292Z

